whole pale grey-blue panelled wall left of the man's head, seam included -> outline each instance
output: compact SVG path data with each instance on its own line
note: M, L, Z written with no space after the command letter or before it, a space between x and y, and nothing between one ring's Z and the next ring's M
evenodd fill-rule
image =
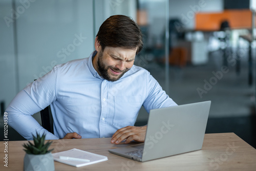
M0 17L15 20L17 30L15 58L13 22L0 20L0 100L6 106L55 65L89 57L94 50L93 0L28 2L16 0L13 9L11 1L0 1Z

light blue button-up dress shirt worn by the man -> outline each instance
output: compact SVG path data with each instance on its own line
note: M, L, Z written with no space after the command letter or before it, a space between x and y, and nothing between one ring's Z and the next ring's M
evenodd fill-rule
M46 139L73 132L82 138L111 137L134 125L142 105L147 112L177 105L141 67L134 65L114 82L103 79L92 65L96 53L57 65L20 91L7 107L8 124L28 140L36 131ZM32 117L50 104L54 135Z

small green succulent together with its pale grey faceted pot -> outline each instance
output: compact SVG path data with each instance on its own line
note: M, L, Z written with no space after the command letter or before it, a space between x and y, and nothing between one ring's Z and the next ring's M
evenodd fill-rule
M51 142L45 144L46 135L40 136L36 133L36 137L33 135L34 144L31 142L25 143L24 151L26 155L24 157L24 170L54 170L54 160L52 157L53 149L48 150Z

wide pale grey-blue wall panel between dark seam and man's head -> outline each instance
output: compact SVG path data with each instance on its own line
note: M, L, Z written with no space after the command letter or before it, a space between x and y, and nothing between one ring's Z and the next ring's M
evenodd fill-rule
M92 14L92 1L48 0L34 2L20 15L17 19L19 89L59 63L91 54Z

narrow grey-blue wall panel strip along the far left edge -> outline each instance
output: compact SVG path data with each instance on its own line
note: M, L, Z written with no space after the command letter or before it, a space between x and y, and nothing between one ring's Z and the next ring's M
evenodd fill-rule
M10 14L11 1L2 0L0 5L0 101L6 105L16 95L15 55L13 44L13 25L6 25L5 16Z

